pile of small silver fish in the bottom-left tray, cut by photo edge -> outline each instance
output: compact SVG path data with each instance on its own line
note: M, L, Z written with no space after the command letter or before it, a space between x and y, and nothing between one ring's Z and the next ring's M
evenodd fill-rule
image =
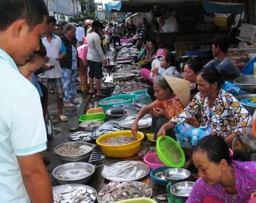
M83 186L67 186L63 192L53 194L54 203L93 203L96 197L95 191Z

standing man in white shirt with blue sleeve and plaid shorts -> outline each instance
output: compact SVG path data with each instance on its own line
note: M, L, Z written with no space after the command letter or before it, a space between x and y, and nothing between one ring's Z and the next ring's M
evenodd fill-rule
M65 97L61 68L59 60L66 54L66 48L59 36L53 34L56 25L56 20L53 16L47 18L47 30L45 36L42 38L43 44L46 47L46 63L52 64L55 67L49 71L46 71L44 75L38 79L46 88L50 88L53 85L53 90L57 94L58 104L58 118L61 121L67 121L66 116L62 115L63 98Z

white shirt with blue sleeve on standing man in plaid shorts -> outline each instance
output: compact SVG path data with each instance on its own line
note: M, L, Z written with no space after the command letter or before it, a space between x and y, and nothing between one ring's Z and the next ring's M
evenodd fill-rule
M53 34L53 39L51 42L49 42L46 37L43 37L42 41L46 47L46 56L50 58L46 63L50 63L55 67L49 71L46 71L44 75L40 76L40 78L61 78L61 67L59 61L56 60L56 58L58 58L59 54L66 53L65 45L59 36L55 34Z

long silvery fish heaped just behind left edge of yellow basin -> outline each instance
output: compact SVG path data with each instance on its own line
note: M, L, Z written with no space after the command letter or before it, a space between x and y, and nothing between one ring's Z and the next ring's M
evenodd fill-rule
M115 132L115 131L123 131L125 128L123 127L119 127L116 124L115 120L110 120L105 122L104 124L100 125L98 128L96 128L93 132L92 132L92 137L94 139L97 139L98 137L109 133L109 132Z

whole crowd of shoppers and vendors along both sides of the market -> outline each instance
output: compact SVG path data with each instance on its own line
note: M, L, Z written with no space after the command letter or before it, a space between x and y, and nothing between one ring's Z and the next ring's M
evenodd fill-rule
M241 76L227 55L226 37L212 40L216 59L202 65L186 62L184 72L175 67L175 54L158 48L148 39L148 24L99 21L85 30L49 16L44 0L0 0L0 196L3 203L53 203L51 181L43 162L46 150L44 93L53 88L58 118L65 122L63 106L76 106L76 78L79 72L83 92L100 90L102 66L107 64L103 44L130 32L138 34L136 47L141 74L151 85L153 103L145 106L132 126L152 112L154 138L170 136L190 157L184 168L194 164L199 179L188 203L245 203L256 195L256 163L232 160L233 142L242 138L252 123L248 111L233 96L234 79ZM57 26L57 29L55 29ZM85 40L86 35L86 40ZM105 38L104 38L105 35ZM79 46L79 47L77 47ZM89 66L89 87L87 69ZM32 85L33 84L33 85ZM47 106L47 104L46 104ZM239 144L235 144L240 149ZM249 149L249 148L247 148Z

